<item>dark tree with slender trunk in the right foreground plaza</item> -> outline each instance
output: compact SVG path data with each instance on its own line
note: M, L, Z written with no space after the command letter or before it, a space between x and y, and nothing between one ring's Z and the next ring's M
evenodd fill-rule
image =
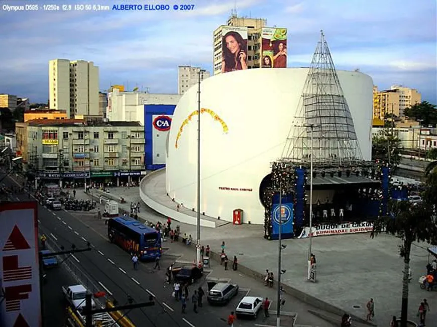
M408 314L408 272L410 268L411 245L413 242L434 243L437 241L435 216L427 203L392 201L388 216L379 217L374 224L374 234L382 232L401 239L399 255L404 260L402 278L401 325L407 326Z

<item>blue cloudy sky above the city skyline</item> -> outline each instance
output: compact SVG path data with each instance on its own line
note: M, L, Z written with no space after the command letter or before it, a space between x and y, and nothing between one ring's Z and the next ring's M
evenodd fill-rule
M48 61L93 61L100 89L129 83L153 93L177 91L177 66L212 69L212 33L234 0L100 0L87 4L194 4L191 12L6 12L0 0L0 93L47 101ZM36 4L78 4L34 0ZM434 0L236 0L238 14L288 28L288 66L308 66L325 33L338 69L356 69L379 88L417 88L437 103L437 27Z

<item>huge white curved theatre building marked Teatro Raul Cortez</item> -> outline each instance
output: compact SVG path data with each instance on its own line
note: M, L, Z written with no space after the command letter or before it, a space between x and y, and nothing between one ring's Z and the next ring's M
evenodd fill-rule
M371 159L373 81L366 74L337 71L348 101L363 159ZM264 224L259 188L282 153L298 108L308 68L248 69L201 83L201 212L232 221ZM197 86L180 99L173 115L166 158L170 198L196 208Z

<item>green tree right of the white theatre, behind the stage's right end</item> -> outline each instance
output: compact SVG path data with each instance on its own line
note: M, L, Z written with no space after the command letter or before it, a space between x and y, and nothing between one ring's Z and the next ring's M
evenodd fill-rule
M401 141L391 129L381 129L372 139L372 160L390 162L397 167L400 163Z

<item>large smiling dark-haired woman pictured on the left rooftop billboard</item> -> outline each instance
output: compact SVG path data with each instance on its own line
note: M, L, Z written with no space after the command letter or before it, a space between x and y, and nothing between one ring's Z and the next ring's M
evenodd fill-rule
M223 37L222 73L247 69L246 41L242 36L230 31Z

